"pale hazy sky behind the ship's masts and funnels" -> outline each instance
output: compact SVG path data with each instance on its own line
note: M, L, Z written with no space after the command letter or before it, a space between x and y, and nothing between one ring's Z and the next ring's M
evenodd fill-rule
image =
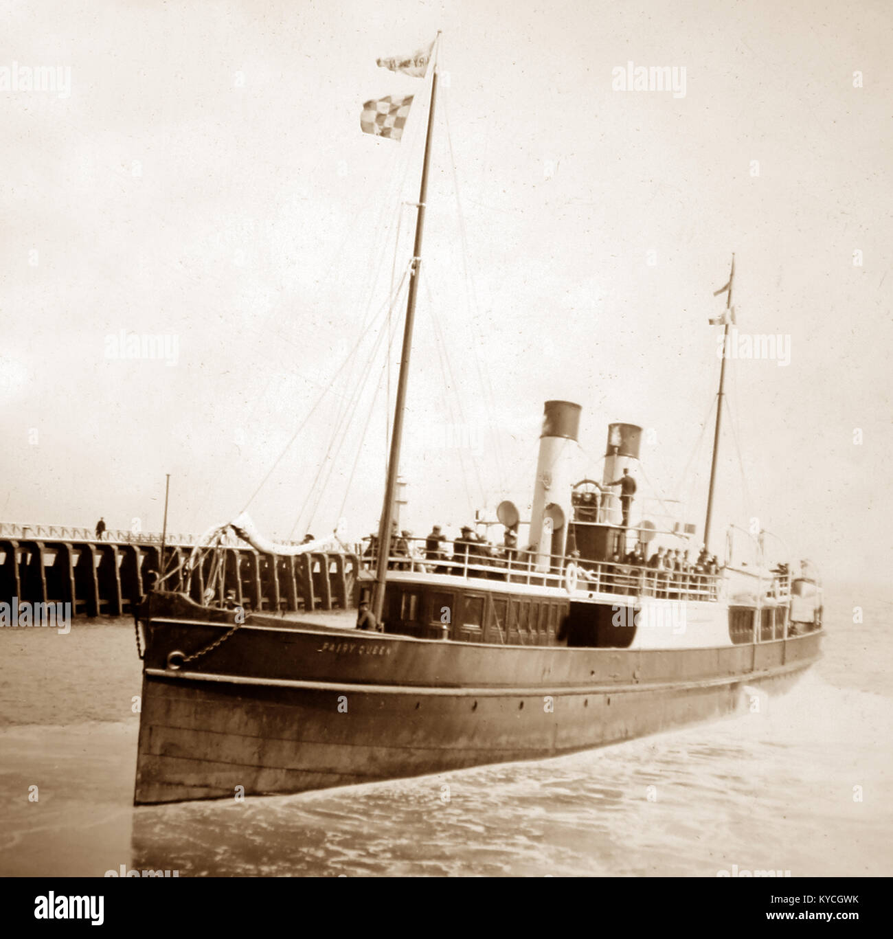
M441 29L410 527L529 501L547 398L584 408L581 473L600 473L609 421L651 429L644 474L702 523L707 317L735 252L740 333L784 337L790 361L729 362L716 547L759 516L826 577L888 578L885 0L0 8L0 518L159 530L170 472L170 527L203 531L331 388L251 511L281 537L375 525L376 340L410 254L426 88L376 58ZM685 94L615 90L628 62L685 69ZM62 84L29 90L23 67L51 66ZM413 92L401 143L360 132L364 100ZM167 361L115 358L128 334L165 337Z

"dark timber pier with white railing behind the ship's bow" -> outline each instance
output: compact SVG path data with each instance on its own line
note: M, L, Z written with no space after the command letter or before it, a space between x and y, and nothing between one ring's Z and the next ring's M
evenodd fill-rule
M70 604L70 615L128 616L146 593L149 572L185 562L191 535L106 531L0 523L0 603ZM360 559L345 552L298 556L263 554L244 543L225 547L225 584L235 602L252 611L300 612L355 606ZM208 558L208 562L210 559ZM192 577L201 601L208 564ZM171 582L173 580L173 582ZM183 590L182 570L168 580Z

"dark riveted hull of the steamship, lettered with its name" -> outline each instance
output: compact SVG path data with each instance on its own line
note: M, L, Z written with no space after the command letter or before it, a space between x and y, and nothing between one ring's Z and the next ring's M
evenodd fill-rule
M300 793L599 747L727 714L741 685L792 682L821 639L631 652L256 626L194 670L171 671L167 654L186 639L202 647L214 627L152 631L136 804Z

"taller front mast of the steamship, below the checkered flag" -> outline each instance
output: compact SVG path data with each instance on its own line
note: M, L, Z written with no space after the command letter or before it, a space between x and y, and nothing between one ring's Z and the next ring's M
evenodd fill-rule
M438 32L438 40L440 33ZM393 407L393 432L391 435L391 454L388 457L388 481L385 485L384 505L378 525L378 559L376 569L376 588L372 611L380 622L384 609L385 581L388 577L388 555L391 550L391 519L393 518L393 498L397 488L397 473L400 469L400 446L403 441L403 411L407 399L409 377L409 353L412 351L412 326L415 320L415 298L419 286L419 272L422 269L422 233L424 228L424 208L428 194L428 164L431 159L431 130L434 127L434 101L438 88L437 45L434 54L434 71L431 76L431 101L428 106L428 129L424 136L424 160L422 163L422 183L419 187L419 214L415 223L415 243L412 248L412 265L409 271L409 291L407 297L407 318L403 327L403 349L400 353L400 377L397 379L397 399Z

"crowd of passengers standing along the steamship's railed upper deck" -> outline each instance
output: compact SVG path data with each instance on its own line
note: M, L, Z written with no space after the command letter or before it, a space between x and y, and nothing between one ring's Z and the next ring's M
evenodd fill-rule
M377 557L377 535L370 535L365 557ZM509 569L519 573L531 568L533 548L519 550L516 529L506 528L502 544L495 546L466 525L456 538L452 553L449 539L445 538L439 525L435 525L424 539L414 538L411 531L397 531L393 526L388 567L393 570L419 571L427 574L462 574L469 577L503 578ZM403 560L406 559L406 560ZM608 564L581 562L579 551L572 550L567 563L576 564L580 579L593 582L613 593L639 593L647 591L658 596L682 596L689 593L705 593L710 582L706 575L719 571L716 555L701 547L697 561L691 561L689 552L681 549L658 547L651 557L646 557L642 546L637 546L621 556L614 553ZM585 564L585 566L584 566ZM495 570L488 571L485 568ZM595 568L590 569L590 568ZM561 559L553 559L553 572L562 573ZM701 579L701 577L703 579Z

